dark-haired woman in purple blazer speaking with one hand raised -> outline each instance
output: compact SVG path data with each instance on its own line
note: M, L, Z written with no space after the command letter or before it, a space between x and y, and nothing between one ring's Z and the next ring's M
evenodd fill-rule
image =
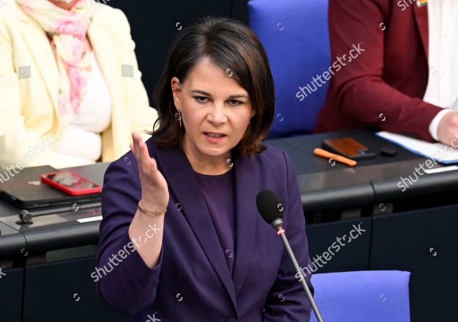
M105 173L91 275L101 297L129 321L309 321L288 253L256 208L273 190L299 265L311 263L294 166L261 142L275 95L259 39L202 19L176 39L155 101L152 137L132 133Z

